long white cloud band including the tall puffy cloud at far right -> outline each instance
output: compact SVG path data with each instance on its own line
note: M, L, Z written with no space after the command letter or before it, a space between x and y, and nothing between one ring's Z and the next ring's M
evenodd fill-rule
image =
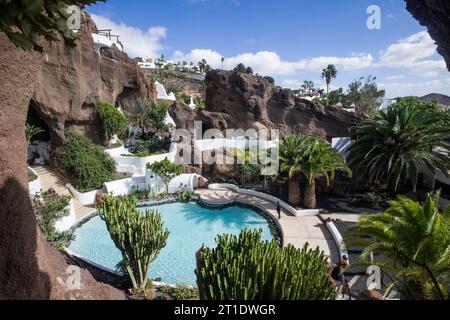
M352 54L347 57L320 56L297 61L286 61L276 52L260 51L225 57L224 68L233 69L238 63L243 63L251 66L255 72L263 75L289 76L300 71L320 72L328 64L334 64L338 70L343 71L378 67L403 69L417 76L435 77L446 70L443 59L429 59L436 53L436 45L429 34L427 32L419 32L390 45L380 53L378 61L375 61L373 56L368 53ZM176 51L173 58L174 60L185 60L195 63L206 59L214 68L222 66L222 55L211 49L194 49L189 53Z

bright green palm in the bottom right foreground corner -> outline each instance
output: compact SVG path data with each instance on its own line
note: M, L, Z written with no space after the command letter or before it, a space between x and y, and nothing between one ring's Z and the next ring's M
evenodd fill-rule
M392 286L410 298L408 284L419 283L430 298L444 300L443 289L450 289L450 207L439 213L439 198L439 192L429 194L420 205L399 196L386 212L364 216L346 235L348 244L365 247L357 264L395 272ZM381 255L379 261L371 261L373 253Z

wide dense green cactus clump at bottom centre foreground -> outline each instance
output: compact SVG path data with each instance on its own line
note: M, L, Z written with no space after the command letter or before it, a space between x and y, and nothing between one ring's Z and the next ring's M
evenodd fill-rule
M262 231L216 239L197 252L197 285L203 300L328 300L335 297L327 258L318 248L261 242Z

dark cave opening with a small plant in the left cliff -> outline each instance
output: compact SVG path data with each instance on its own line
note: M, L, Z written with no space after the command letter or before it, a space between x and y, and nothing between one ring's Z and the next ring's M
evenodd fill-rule
M36 104L31 101L27 113L28 163L43 165L50 161L51 136L50 129L37 111Z

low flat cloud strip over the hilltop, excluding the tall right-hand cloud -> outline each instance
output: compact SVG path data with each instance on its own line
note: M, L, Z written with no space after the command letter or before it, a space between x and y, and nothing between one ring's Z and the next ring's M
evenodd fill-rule
M185 54L176 51L173 55L176 61L192 61L197 63L202 59L214 68L222 66L222 55L210 49L194 49ZM358 54L349 57L316 57L299 61L285 61L276 52L260 51L257 53L243 53L232 57L225 57L224 69L233 69L239 63L243 63L254 69L256 73L263 75L293 75L299 71L320 72L328 64L335 64L342 70L358 70L368 68L373 62L370 54Z

